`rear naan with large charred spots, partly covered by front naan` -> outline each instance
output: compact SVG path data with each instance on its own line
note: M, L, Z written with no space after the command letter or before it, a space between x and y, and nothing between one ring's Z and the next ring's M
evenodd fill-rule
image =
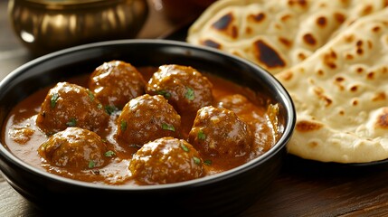
M386 5L387 0L218 0L190 26L186 41L239 55L276 74Z

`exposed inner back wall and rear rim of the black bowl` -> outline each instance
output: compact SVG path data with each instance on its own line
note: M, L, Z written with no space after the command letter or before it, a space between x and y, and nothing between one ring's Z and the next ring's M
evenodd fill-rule
M82 73L90 73L104 61L120 60L138 66L182 64L193 66L270 97L279 103L279 144L289 139L295 124L292 102L286 90L260 67L212 48L168 40L118 40L96 42L53 52L30 61L0 83L0 123L14 105L33 91ZM3 143L3 137L0 142ZM273 149L277 149L275 146ZM274 150L276 151L276 150Z

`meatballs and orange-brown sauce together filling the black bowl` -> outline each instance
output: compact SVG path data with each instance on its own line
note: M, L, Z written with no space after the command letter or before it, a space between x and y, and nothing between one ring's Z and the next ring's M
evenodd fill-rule
M5 145L55 175L99 184L171 184L262 155L277 104L193 67L109 61L38 90L11 110Z

